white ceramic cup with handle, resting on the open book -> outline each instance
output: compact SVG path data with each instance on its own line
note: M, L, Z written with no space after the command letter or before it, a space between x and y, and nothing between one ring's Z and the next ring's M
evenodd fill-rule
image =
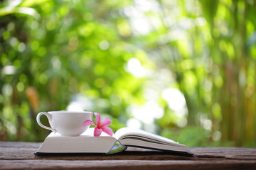
M46 115L50 123L50 127L43 125L40 121L41 115ZM85 111L50 111L41 112L36 116L38 125L47 130L52 130L54 133L62 136L79 136L90 125L84 126L85 120L92 120L92 112Z

